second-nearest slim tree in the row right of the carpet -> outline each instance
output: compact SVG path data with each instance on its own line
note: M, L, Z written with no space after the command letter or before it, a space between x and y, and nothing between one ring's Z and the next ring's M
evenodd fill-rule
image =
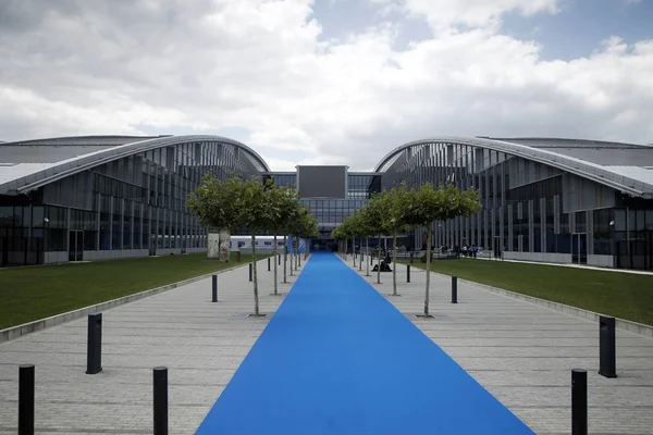
M407 222L407 211L411 200L411 195L408 191L408 187L405 183L396 188L387 190L382 196L384 201L383 210L385 211L385 219L383 220L383 226L387 233L392 234L392 246L393 246L393 270L392 270L392 295L397 295L397 233L407 232L410 229L410 225Z

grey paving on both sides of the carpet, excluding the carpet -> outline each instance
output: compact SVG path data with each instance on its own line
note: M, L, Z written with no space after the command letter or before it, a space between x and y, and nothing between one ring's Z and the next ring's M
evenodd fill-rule
M261 308L273 312L281 298L268 296L272 273L266 263L259 263ZM390 301L407 315L421 311L424 272L414 269L411 284L404 266L397 275L404 296ZM373 283L375 275L365 279ZM382 281L373 287L390 294L392 274ZM156 365L170 368L170 433L193 434L269 323L243 315L252 306L246 266L221 274L220 283L219 303L210 302L205 279L106 311L104 370L97 375L84 373L85 319L0 344L0 434L16 431L21 363L36 363L39 434L151 434ZM606 380L596 374L593 322L458 286L460 303L454 306L449 279L433 274L436 318L409 319L534 432L570 433L570 370L583 368L591 433L653 433L653 339L618 330L619 377Z

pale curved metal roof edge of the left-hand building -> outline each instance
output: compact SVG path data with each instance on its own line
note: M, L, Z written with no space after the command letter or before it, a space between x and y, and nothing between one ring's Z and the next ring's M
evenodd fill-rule
M4 191L28 191L66 176L74 175L78 172L83 172L94 166L124 157L157 148L183 144L195 144L200 141L220 142L238 147L245 151L245 154L249 161L257 166L257 169L260 167L261 172L270 171L268 163L266 163L266 161L255 150L237 140L222 136L209 135L168 136L132 141L125 145L101 149L53 163L14 163L2 165L5 166L3 167L3 172L5 174L4 176L0 177L0 188ZM3 146L17 144L23 142L3 144Z

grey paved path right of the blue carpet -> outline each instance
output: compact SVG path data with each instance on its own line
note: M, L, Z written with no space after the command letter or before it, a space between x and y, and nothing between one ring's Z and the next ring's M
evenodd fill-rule
M370 274L368 283L392 293L392 273L381 285ZM435 319L417 320L410 314L423 311L426 273L411 268L410 277L406 284L399 264L403 296L389 299L535 433L571 432L571 369L584 369L590 433L653 434L653 339L617 330L618 377L608 380L597 374L597 324L461 283L452 304L451 278L434 273Z

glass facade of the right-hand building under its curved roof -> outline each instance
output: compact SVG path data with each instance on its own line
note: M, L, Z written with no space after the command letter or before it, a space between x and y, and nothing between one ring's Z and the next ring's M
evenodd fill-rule
M406 182L480 191L479 213L433 223L432 248L477 245L516 260L653 269L653 200L556 167L553 156L542 162L481 145L417 142L377 169L384 189ZM653 148L643 150L653 158ZM424 233L412 232L411 249L427 248Z

